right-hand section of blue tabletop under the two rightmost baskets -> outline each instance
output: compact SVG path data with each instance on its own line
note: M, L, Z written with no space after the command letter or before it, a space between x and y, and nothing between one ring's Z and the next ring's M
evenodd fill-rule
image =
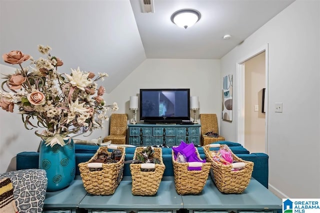
M282 200L254 178L241 194L221 193L209 178L200 194L183 195L183 208L216 211L276 211L282 209Z

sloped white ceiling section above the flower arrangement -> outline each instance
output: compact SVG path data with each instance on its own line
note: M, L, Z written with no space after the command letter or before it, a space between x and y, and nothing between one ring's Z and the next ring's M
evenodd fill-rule
M1 0L0 31L1 55L21 50L36 59L37 45L49 45L61 73L108 73L107 92L145 59L129 0Z

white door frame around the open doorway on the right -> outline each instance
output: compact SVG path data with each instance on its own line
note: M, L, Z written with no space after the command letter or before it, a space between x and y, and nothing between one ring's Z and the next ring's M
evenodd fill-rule
M265 153L268 153L268 44L261 46L260 48L256 49L255 51L248 54L248 56L238 60L239 62L236 63L236 91L237 91L237 141L241 145L245 145L244 141L244 98L245 98L245 91L244 91L244 62L261 52L265 51L265 93L264 93L264 111L265 111L265 137L264 137L264 144L265 144Z

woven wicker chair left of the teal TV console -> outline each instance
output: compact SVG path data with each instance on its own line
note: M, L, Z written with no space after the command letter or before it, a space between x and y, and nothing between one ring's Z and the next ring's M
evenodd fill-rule
M113 144L125 144L127 120L127 114L111 114L109 135L104 137L103 141L111 140Z

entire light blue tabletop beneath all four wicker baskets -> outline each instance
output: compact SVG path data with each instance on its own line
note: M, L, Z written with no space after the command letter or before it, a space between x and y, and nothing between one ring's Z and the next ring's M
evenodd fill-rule
M241 194L224 194L218 191L211 177L199 194L176 193L172 176L163 176L158 191L153 196L131 193L131 178L124 176L112 195L92 195L85 191L80 176L71 185L55 192L47 192L44 212L276 212L282 201L257 180L251 178ZM61 212L61 211L60 211Z

